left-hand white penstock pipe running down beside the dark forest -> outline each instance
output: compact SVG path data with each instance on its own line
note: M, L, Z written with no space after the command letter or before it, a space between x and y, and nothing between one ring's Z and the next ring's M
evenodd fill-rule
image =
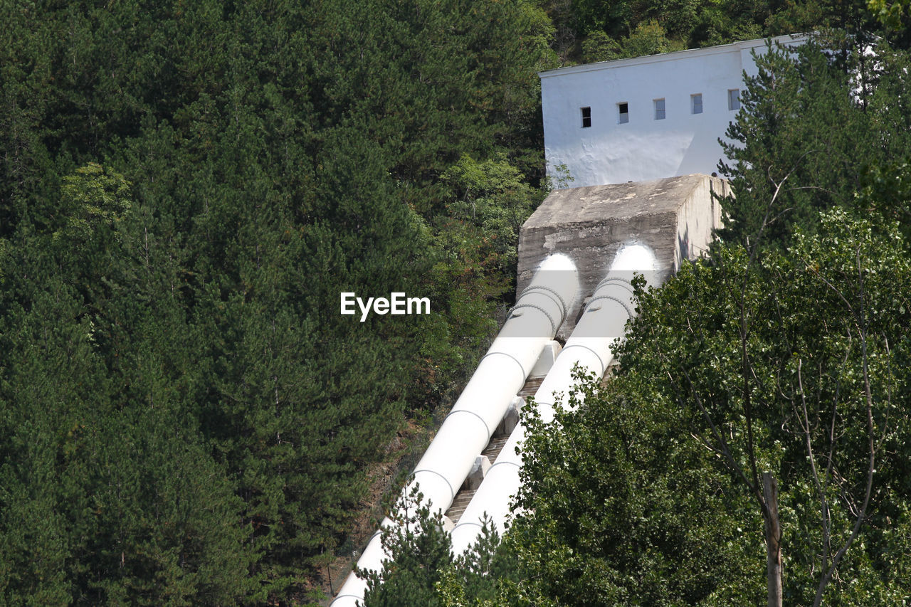
M432 512L445 512L452 505L455 493L506 415L510 403L525 385L544 346L557 334L577 294L578 273L566 255L557 253L541 263L527 289L519 295L494 343L477 365L475 375L418 462L414 478L404 488L404 496L416 484ZM392 525L394 522L386 518L381 529ZM388 558L377 530L357 566L363 570L382 571L383 561ZM366 588L366 582L352 571L332 606L346 607L363 602Z

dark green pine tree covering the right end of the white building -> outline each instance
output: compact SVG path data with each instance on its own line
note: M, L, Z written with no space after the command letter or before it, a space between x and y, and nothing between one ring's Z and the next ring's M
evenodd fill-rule
M907 58L881 47L877 65L853 47L845 63L823 50L839 44L828 38L757 58L759 73L747 78L722 139L733 162L720 170L737 192L723 201L723 240L787 247L796 227L816 230L820 211L854 209L869 167L911 153L906 129L895 128L911 116L900 92Z

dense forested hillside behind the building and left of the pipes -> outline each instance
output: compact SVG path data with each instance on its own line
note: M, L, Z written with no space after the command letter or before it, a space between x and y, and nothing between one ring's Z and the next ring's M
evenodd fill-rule
M902 15L884 28L844 2L0 7L5 604L320 598L367 470L445 407L512 298L517 228L548 189L537 70L826 26L904 44ZM780 149L832 177L807 188L866 188L876 217L905 220L906 143L881 145L909 119L905 83L875 98L871 81L877 122L844 77L798 95L807 73L846 73L807 65L779 113L813 109L806 133L738 127L758 185L733 225L767 201L763 168L791 166ZM803 146L833 125L844 146ZM883 160L863 182L860 132ZM831 206L794 192L812 225ZM360 323L343 291L434 314Z

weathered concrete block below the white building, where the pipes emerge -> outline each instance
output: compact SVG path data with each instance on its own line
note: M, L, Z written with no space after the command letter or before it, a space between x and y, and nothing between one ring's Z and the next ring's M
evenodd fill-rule
M727 181L707 175L554 190L519 231L519 292L542 260L562 252L576 263L580 291L588 296L630 243L654 252L655 283L663 283L683 260L708 248L722 220L715 196L728 194ZM558 339L572 333L582 304L570 306Z

